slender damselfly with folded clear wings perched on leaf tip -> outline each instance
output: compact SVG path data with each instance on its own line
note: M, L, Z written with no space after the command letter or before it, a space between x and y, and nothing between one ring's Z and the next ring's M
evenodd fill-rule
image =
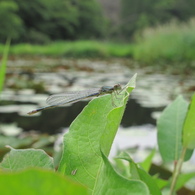
M91 97L98 97L105 94L112 94L113 92L117 92L121 89L122 89L121 85L116 84L113 87L103 86L101 88L94 88L94 89L88 89L83 91L73 91L73 92L67 92L61 94L54 94L49 96L46 100L49 106L38 108L36 110L28 112L28 114L32 115L42 110L63 106L65 104L75 103L80 100L84 100Z

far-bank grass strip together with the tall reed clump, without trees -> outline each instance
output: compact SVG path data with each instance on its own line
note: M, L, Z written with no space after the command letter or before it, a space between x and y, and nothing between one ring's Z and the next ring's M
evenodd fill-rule
M147 64L166 62L193 65L195 60L195 19L188 23L172 21L137 34L137 43L102 41L64 41L46 45L16 44L10 54L18 56L50 56L73 58L128 57ZM3 53L4 45L0 45Z

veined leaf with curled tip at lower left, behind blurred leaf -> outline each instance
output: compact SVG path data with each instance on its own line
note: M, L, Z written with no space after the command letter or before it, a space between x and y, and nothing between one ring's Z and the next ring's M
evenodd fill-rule
M53 158L40 149L11 148L0 164L0 168L6 171L18 171L30 167L53 169Z

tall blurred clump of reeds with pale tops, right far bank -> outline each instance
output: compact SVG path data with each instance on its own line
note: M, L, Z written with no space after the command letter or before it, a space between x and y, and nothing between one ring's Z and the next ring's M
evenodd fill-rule
M195 59L195 19L187 24L172 21L156 28L147 28L137 36L134 58L142 62L185 61Z

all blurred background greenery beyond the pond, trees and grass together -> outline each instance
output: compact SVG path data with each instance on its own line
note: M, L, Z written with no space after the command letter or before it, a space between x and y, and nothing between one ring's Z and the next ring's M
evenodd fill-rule
M109 41L109 22L95 0L35 0L28 5L25 0L0 0L0 17L5 18L0 20L0 41L13 37L10 54L20 57L125 57L147 65L194 68L194 3L123 0L118 26L126 40L122 43ZM0 45L0 53L3 48Z

